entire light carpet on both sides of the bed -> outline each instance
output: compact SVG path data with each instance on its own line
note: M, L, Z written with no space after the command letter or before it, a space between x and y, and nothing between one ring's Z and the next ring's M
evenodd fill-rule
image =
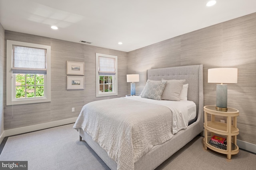
M9 137L0 160L28 161L28 170L109 170L98 155L79 141L73 124ZM156 170L254 170L256 155L240 150L231 160L196 137Z

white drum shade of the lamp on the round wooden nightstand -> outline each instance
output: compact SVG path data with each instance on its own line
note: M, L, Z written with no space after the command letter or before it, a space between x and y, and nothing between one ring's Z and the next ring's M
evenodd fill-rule
M208 69L208 83L237 83L237 68Z

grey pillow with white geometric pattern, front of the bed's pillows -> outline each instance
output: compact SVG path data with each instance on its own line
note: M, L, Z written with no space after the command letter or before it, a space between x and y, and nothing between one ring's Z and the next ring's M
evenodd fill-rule
M142 98L161 100L162 93L164 91L164 87L166 82L147 82L146 89Z

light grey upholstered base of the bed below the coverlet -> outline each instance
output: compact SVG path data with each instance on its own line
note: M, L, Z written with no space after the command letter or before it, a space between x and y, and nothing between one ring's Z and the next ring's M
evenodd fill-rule
M197 129L196 131L194 129ZM84 132L82 129L79 129L80 140L82 138L86 143L98 154L98 156L107 164L111 170L117 169L117 164L112 160L107 152L100 147L98 143L92 140L92 137ZM188 142L190 142L194 137L199 135L202 132L202 128L199 127L198 123L191 124L186 131L181 130L172 137L169 141L155 146L150 152L142 156L138 162L134 163L135 170L154 170L162 162L168 159L172 154L184 147ZM178 141L178 142L177 142Z

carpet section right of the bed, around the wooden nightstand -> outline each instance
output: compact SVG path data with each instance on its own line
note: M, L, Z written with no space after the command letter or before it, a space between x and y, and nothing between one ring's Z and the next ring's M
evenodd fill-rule
M256 154L239 150L231 160L226 154L204 149L203 137L195 137L156 170L256 170Z

